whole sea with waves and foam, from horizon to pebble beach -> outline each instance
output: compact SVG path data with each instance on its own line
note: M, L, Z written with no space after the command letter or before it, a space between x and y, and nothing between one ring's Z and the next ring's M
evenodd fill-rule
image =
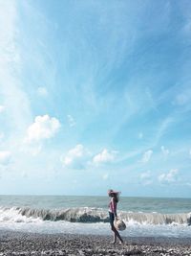
M0 232L111 235L107 197L0 196ZM124 237L191 238L191 198L120 197Z

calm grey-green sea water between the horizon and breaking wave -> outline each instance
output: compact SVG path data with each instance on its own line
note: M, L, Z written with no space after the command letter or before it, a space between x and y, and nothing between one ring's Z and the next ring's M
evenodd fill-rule
M0 206L29 206L44 209L70 207L96 207L107 209L107 197L74 196L0 196ZM191 198L126 198L121 197L118 210L145 213L189 213Z

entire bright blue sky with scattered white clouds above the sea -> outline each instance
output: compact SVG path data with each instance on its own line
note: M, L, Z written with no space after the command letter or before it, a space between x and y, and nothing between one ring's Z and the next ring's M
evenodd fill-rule
M0 0L0 194L191 198L191 2Z

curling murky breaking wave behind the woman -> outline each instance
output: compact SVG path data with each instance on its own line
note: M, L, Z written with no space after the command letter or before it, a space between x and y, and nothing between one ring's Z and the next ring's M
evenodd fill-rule
M191 225L191 213L160 214L118 211L127 223ZM0 222L70 221L109 222L108 212L101 208L35 209L30 207L0 207Z

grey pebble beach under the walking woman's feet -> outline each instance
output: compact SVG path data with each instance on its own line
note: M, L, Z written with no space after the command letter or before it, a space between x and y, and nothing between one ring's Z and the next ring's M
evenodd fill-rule
M121 232L122 235L122 232ZM190 239L0 232L0 256L10 255L191 255Z

